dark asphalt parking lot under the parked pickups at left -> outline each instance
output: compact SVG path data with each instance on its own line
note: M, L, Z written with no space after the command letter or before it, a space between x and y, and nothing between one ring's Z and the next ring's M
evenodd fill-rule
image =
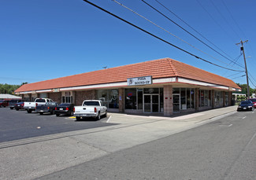
M106 123L106 120L107 118L99 121L95 119L76 121L69 116L39 115L24 110L0 108L0 142L113 125Z

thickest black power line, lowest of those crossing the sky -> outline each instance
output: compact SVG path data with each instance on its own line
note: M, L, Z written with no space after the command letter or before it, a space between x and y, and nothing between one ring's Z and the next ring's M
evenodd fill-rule
M125 23L130 24L130 25L132 25L132 26L135 27L135 28L138 28L140 31L143 31L143 32L147 33L148 35L151 35L151 36L153 36L154 38L159 39L159 40L161 40L162 42L165 42L165 43L169 44L170 46L173 46L173 47L175 47L176 49L183 51L184 53L187 53L187 54L189 54L189 55L191 55L191 56L193 56L193 57L196 57L197 59L200 59L200 60L202 60L202 61L205 61L205 62L207 62L207 63L209 63L209 64L213 64L213 65L215 65L215 66L217 66L217 67L219 67L219 68L224 68L224 69L227 69L227 70L230 70L230 71L234 71L234 72L243 72L243 71L234 70L234 69L231 69L231 68L225 68L225 67L223 67L223 66L221 66L221 65L214 64L214 63L212 63L212 62L210 62L210 61L206 61L205 59L203 59L203 58L201 58L201 57L198 57L198 56L196 56L195 54L188 52L187 50L183 50L183 49L181 49L180 47L175 46L175 45L172 44L171 42L168 42L168 41L165 41L164 39L159 38L157 35L153 35L153 34L150 33L149 31L144 30L143 28L139 28L139 27L136 26L135 24L132 24L132 23L128 22L128 20L124 20L124 19L122 19L121 17L118 17L117 15L115 15L115 14L113 14L113 13L110 13L110 12L107 11L106 9L103 9L102 7L97 6L97 5L95 5L94 3L92 3L92 2L89 2L89 1L87 1L87 0L83 0L83 2L87 2L87 3L90 4L91 6L95 6L96 8L101 9L102 11L104 11L105 13L109 13L111 16L116 17L117 19L124 21Z

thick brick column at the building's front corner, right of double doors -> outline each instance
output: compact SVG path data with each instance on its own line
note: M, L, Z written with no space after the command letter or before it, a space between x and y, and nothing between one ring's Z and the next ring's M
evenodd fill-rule
M173 86L164 86L164 116L173 115Z

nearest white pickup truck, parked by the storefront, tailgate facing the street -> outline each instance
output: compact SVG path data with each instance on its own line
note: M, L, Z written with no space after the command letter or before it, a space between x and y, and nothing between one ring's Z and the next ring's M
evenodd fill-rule
M101 116L107 116L107 108L99 100L85 100L82 106L75 106L73 112L76 120L80 120L83 117L94 117L99 120Z

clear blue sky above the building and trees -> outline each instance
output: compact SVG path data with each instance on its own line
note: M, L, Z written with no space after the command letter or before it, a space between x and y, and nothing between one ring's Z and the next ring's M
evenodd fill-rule
M165 31L112 0L90 2L224 68L198 60L83 0L8 0L0 2L0 83L34 83L163 57L227 77L235 83L247 83L246 77L241 77L244 72L225 69L244 70L243 55L239 57L240 46L236 45L242 39L249 40L244 50L252 81L250 87L255 88L254 0L145 0L213 50L141 0L117 2Z

